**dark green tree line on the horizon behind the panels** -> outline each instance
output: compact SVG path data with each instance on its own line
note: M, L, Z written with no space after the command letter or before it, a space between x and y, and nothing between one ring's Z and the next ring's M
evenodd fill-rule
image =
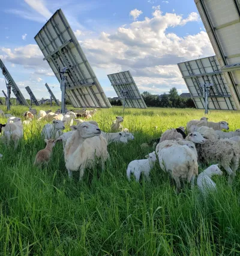
M161 95L152 95L149 92L143 92L142 98L144 99L147 107L161 107L161 108L195 108L193 99L182 98L178 95L178 90L175 87L169 90L169 94L164 93ZM111 100L111 105L121 106L119 100Z

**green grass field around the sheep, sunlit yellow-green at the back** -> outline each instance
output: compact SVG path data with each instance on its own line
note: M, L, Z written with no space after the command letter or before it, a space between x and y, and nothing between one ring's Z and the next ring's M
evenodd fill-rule
M26 110L12 107L10 113ZM121 107L99 110L94 120L108 131L117 115ZM131 160L151 152L140 148L143 142L202 116L194 109L125 110L123 126L135 140L110 145L106 170L87 170L80 183L78 173L68 180L61 143L47 169L32 166L45 146L44 122L25 128L16 151L0 143L0 255L240 255L240 175L232 187L225 171L215 177L218 193L208 200L187 185L176 195L158 164L149 183L129 183L125 175ZM238 111L209 114L210 120L229 122L230 131L240 128L239 117ZM0 123L6 120L0 117Z

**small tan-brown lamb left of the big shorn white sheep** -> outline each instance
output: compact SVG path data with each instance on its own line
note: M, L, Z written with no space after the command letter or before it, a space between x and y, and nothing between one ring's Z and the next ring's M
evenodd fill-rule
M44 142L47 143L46 147L37 152L37 155L34 160L34 165L40 168L42 167L43 164L46 164L46 165L49 164L49 161L52 155L52 149L53 149L53 146L55 146L55 140L53 139L50 139L50 140L45 139Z

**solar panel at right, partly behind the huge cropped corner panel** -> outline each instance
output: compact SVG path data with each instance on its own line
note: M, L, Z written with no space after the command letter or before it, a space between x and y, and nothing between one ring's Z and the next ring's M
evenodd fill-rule
M205 108L203 84L213 84L209 88L208 108L237 110L235 100L216 56L178 63L178 67L196 108Z

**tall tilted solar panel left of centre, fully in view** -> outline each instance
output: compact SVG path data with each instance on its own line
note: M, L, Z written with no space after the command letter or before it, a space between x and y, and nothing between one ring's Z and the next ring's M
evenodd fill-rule
M111 107L61 9L50 17L34 39L59 83L60 70L67 68L62 72L62 79L65 76L66 93L74 107Z

